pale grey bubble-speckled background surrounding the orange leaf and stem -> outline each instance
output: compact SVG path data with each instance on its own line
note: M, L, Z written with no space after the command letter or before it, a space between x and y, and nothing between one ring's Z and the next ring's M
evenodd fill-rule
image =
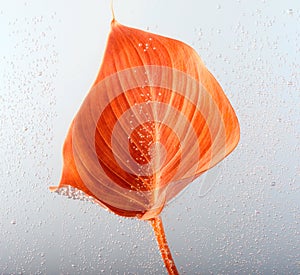
M181 273L300 273L300 1L115 1L119 22L192 45L238 148L163 211ZM109 1L1 0L0 274L163 274L147 222L50 193L97 74Z

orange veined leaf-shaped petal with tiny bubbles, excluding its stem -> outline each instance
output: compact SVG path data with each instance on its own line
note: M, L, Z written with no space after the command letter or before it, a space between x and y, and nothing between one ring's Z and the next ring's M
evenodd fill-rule
M151 219L238 140L233 108L191 47L113 20L99 74L65 141L58 188Z

